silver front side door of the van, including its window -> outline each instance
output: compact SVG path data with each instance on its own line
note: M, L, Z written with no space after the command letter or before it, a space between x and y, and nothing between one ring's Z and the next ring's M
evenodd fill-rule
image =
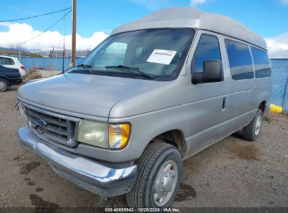
M194 44L196 43L196 45ZM196 153L228 134L226 102L228 101L228 80L224 63L224 46L221 36L213 32L198 30L196 40L186 64L188 79L188 107L190 113L190 154ZM220 60L224 67L224 80L215 83L191 82L191 73L203 73L205 60Z

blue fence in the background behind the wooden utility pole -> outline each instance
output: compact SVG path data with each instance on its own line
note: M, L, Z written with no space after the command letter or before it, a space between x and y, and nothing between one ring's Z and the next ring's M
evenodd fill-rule
M76 57L75 64L78 65L83 57ZM24 65L26 71L32 67L41 67L46 70L62 70L62 57L21 57L20 62ZM71 57L64 57L64 70L69 67Z

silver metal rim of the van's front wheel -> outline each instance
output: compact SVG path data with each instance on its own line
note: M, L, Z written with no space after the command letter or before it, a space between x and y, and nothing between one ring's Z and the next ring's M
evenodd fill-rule
M165 205L171 198L178 180L178 167L173 160L165 162L153 186L153 200L157 206Z

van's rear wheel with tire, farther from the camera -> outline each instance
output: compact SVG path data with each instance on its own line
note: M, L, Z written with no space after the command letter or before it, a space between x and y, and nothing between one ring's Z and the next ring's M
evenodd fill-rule
M254 142L260 132L262 126L262 111L258 109L256 116L254 119L242 130L242 137L250 142Z

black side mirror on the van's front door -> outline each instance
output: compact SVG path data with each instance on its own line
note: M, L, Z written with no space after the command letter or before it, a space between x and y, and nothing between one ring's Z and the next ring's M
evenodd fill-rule
M203 73L192 73L192 83L213 83L223 81L223 66L220 60L205 60Z

